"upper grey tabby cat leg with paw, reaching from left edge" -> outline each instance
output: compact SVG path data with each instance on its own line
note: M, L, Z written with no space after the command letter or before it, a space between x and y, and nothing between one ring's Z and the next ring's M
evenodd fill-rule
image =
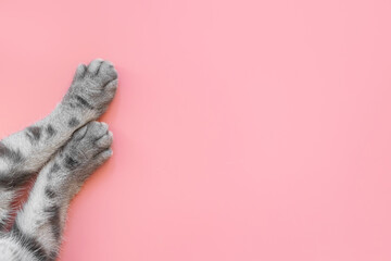
M116 87L117 73L110 62L80 64L67 94L52 113L0 141L0 228L8 221L16 190L77 128L106 110Z

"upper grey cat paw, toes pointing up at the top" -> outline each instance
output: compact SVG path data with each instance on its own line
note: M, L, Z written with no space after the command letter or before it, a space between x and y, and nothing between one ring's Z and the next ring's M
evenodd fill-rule
M78 65L63 103L81 110L86 121L98 119L108 109L117 89L118 75L114 65L101 59Z

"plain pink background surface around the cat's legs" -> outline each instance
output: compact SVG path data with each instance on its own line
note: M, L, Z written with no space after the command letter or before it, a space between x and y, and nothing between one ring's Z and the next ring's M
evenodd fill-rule
M75 260L391 260L389 0L0 2L0 135L116 64Z

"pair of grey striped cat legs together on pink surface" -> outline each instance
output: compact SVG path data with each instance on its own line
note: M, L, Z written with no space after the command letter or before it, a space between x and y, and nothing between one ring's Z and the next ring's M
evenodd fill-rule
M80 64L52 113L0 141L0 261L56 259L72 198L112 156L113 135L94 120L116 88L112 63ZM13 200L37 172L27 201L10 224Z

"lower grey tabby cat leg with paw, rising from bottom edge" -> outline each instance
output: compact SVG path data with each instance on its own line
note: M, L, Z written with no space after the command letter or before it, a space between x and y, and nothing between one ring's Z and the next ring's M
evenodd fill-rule
M112 154L113 136L104 123L91 122L41 170L8 240L18 243L38 260L54 260L67 208L92 172Z

